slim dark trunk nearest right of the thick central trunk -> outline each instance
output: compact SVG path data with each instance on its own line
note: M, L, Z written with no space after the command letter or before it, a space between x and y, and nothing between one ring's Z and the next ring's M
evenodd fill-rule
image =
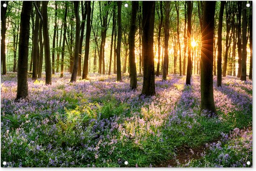
M166 80L168 75L168 41L169 41L169 18L170 18L170 1L165 1L165 23L164 23L164 58L163 58L163 70L162 80ZM142 11L143 13L143 11Z

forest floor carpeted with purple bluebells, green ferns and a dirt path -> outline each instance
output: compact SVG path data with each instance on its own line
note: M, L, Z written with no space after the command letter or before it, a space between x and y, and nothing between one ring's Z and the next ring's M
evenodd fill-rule
M142 76L136 91L128 74L69 80L29 78L29 101L14 102L17 74L1 76L2 167L252 166L250 80L227 76L216 87L214 76L216 117L200 113L198 75L191 86L156 77L152 97L140 96Z

